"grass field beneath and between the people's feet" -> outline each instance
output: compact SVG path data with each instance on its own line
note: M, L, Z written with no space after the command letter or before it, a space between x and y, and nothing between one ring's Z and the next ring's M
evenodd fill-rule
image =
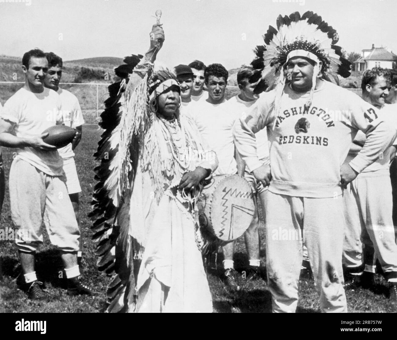
M76 150L77 172L79 173L82 193L80 194L80 220L83 228L81 237L85 257L81 272L84 281L91 288L99 292L96 297L66 295L64 280L59 278L62 271L62 263L56 249L50 245L48 237L44 236L42 244L37 253L36 271L39 279L46 285L46 291L50 295L50 302L35 302L27 299L25 293L17 289L16 267L18 264L17 251L13 241L0 241L0 256L3 266L3 280L0 281L0 312L98 312L102 311L105 304L105 291L109 278L96 270L96 258L93 254L94 244L90 239L90 220L87 214L90 211L91 194L94 182L94 160L92 154L96 149L96 142L101 131L96 126L86 126L83 132L83 139ZM3 158L8 177L12 161L12 150L3 148ZM11 228L10 202L8 198L8 183L6 199L0 220L0 228ZM264 234L263 224L260 229L261 236ZM261 244L261 260L265 261L265 248L263 237ZM218 263L222 260L222 254L218 256ZM244 267L248 262L243 239L236 243L235 263L237 268ZM214 265L214 261L212 262ZM212 293L215 312L244 313L244 312L270 312L271 296L262 280L248 281L239 277L238 281L242 287L241 291L231 294L227 292L222 281L221 272L212 269L208 273L208 281ZM350 312L392 312L387 294L386 282L378 275L374 290L348 291L347 302ZM314 282L301 281L299 283L298 312L317 313L319 312L318 296L314 289Z

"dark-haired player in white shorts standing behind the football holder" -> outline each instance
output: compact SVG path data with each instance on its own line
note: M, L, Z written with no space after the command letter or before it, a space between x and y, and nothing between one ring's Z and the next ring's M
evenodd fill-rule
M63 170L66 177L66 188L73 205L81 235L79 222L79 193L81 192L81 187L77 176L73 150L81 140L82 125L84 124L83 113L81 112L77 97L71 92L59 87L62 77L62 58L52 52L46 53L46 57L48 60L48 73L44 77L44 86L59 94L64 125L76 130L76 137L73 139L73 142L66 145L66 147L58 149L58 152L64 161ZM79 263L81 262L81 244L82 242L80 242L79 251L77 252Z

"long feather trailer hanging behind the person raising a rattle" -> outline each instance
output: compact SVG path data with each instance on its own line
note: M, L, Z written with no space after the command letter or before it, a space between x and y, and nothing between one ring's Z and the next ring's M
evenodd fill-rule
M98 123L104 129L104 132L98 142L98 149L93 155L100 164L94 168L97 183L94 187L93 201L91 202L92 211L89 214L91 220L94 221L91 226L92 239L96 243L95 254L98 270L107 275L113 275L113 279L108 285L107 300L109 304L114 304L115 311L122 311L119 308L122 304L117 303L116 297L126 290L131 275L129 259L123 260L123 256L116 256L116 254L124 253L126 249L130 248L127 230L120 228L120 223L115 223L116 217L125 216L121 204L120 178L123 158L119 151L123 125L120 124L120 121L125 120L125 90L128 75L132 73L142 57L142 55L126 57L124 59L125 64L114 70L121 81L108 87L109 98L104 102L105 110L100 115L101 121ZM134 136L129 150L131 164L135 166L135 168L131 166L129 169L129 176L132 177L138 161L137 157L135 159L133 157L133 155L137 155L134 149L138 149L138 146L138 138ZM127 290L130 290L133 294L133 289L128 288Z

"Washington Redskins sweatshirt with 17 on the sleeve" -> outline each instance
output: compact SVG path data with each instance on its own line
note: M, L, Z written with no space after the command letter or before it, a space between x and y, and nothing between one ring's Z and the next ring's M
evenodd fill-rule
M299 197L336 197L342 194L340 167L361 130L366 142L350 166L361 172L389 147L397 136L379 111L356 94L323 82L306 107L308 93L285 86L279 115L275 91L266 92L252 105L246 118L233 128L235 146L249 171L258 160L254 134L268 129L273 193Z

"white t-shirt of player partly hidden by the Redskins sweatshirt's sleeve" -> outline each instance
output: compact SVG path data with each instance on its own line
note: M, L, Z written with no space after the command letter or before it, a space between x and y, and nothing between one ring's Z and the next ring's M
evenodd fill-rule
M239 95L236 94L234 97L231 97L225 105L227 105L227 109L229 112L232 112L233 115L240 115L243 117L249 112L249 108L254 104L256 100L252 101L243 101L239 98ZM268 135L266 129L262 129L255 134L256 138L256 153L258 155L258 159L263 162L263 164L270 164L269 159L269 143L268 143Z

